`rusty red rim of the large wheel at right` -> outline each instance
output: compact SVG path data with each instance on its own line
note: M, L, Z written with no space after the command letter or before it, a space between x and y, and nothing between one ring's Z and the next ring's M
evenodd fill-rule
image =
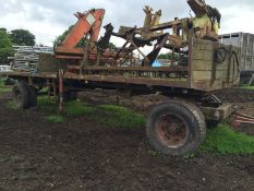
M189 126L176 114L165 114L156 122L157 135L167 147L183 146L189 138Z

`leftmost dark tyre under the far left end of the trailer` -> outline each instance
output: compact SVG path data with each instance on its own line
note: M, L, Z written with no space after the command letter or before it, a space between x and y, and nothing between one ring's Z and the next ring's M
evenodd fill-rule
M13 86L12 92L13 99L17 108L29 108L29 87L26 82L17 82L17 84Z

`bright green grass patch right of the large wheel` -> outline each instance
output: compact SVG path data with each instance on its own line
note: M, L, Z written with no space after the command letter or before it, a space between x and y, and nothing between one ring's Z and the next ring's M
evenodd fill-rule
M227 124L219 124L217 128L208 130L199 151L222 155L254 154L254 136L235 132Z

